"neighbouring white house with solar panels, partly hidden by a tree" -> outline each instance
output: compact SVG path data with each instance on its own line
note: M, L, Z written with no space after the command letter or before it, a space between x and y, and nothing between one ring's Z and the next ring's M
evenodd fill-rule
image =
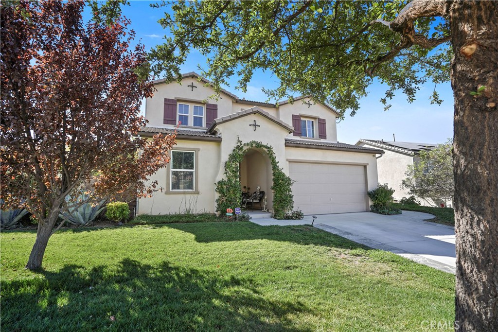
M389 187L395 190L392 196L394 201L397 202L403 197L410 196L408 190L401 188L401 182L406 178L407 166L418 161L418 152L431 150L437 144L360 139L356 146L371 147L384 151L382 155L377 157L378 182L380 184L387 183ZM417 199L424 206L439 206L440 203L437 202L438 204L436 204L430 199ZM451 201L444 203L451 206Z

